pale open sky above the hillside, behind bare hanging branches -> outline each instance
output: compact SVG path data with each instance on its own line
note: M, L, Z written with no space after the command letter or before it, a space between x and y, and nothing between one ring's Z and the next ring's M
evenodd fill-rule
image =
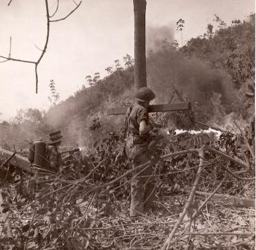
M57 0L48 1L51 15ZM9 2L0 1L0 55L8 57L12 36L11 56L36 61L46 38L45 1L12 0L8 6ZM74 0L60 0L54 18L64 17L75 6ZM244 20L254 12L254 0L147 0L146 33L170 27L166 38L181 45L180 32L175 29L180 18L185 21L182 35L186 42L204 34L207 24L216 26L214 14L230 25L231 20ZM51 23L47 52L38 65L37 94L33 64L0 63L0 121L15 117L20 108L47 110L50 80L65 100L86 84L86 75L99 72L105 77L105 69L126 54L134 57L133 1L83 0L70 17Z

